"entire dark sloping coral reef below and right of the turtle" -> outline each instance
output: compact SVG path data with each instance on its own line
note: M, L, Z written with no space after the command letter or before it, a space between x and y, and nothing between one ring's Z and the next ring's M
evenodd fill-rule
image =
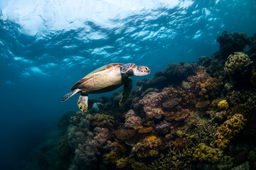
M36 158L48 169L256 169L256 34L218 42L212 57L137 81L122 107L116 91L66 113Z

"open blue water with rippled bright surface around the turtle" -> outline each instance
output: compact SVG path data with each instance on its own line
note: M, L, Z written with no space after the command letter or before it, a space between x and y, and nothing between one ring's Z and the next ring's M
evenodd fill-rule
M77 98L60 98L93 69L132 62L149 67L149 79L169 63L213 55L224 30L255 28L252 0L1 0L0 169L23 162L60 115L78 111Z

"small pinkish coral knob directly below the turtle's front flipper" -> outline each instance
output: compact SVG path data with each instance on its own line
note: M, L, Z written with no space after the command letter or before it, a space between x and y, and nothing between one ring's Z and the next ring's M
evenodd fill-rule
M125 115L125 127L134 128L135 130L142 128L142 118L135 116L134 111L131 109Z

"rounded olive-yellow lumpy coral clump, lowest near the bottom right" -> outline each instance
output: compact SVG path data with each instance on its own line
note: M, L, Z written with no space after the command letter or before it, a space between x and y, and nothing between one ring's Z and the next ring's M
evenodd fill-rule
M199 160L200 162L215 163L220 157L222 157L223 152L218 148L212 148L201 143L196 148L193 154L193 160Z

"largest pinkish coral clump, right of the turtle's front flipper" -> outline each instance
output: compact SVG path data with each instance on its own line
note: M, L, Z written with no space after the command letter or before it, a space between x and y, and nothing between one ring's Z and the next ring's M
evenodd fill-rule
M143 106L143 110L149 118L161 118L164 111L162 111L160 106L161 103L166 101L166 98L166 92L149 92L139 101L139 104Z

